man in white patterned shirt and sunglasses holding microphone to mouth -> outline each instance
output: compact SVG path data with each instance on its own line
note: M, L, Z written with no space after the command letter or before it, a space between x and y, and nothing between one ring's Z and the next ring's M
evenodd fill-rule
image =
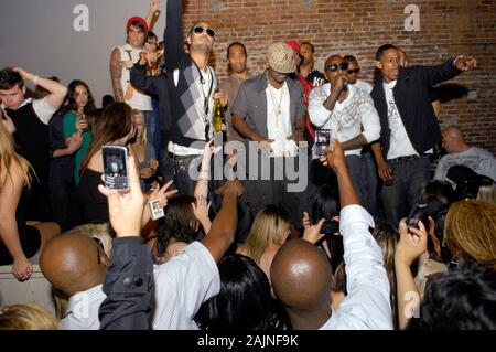
M360 151L362 147L379 138L379 116L370 96L349 84L348 64L342 56L330 56L324 68L328 83L313 88L310 93L310 119L317 128L331 129L331 137L342 143L360 202L373 213L365 201L371 190L368 190L362 181ZM312 170L316 173L322 172L319 168Z

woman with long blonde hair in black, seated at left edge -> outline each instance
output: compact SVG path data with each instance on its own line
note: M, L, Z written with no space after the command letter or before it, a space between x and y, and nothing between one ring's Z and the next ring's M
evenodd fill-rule
M33 265L28 259L61 233L56 223L26 224L30 163L13 148L9 118L0 109L0 265L12 264L12 274L28 280Z

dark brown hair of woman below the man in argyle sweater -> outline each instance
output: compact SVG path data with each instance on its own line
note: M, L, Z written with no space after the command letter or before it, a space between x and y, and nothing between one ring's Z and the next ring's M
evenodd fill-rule
M195 228L192 222L196 220L191 203L196 199L192 195L176 195L168 200L165 217L159 226L157 236L157 252L159 258L165 254L171 238L187 244L195 239Z

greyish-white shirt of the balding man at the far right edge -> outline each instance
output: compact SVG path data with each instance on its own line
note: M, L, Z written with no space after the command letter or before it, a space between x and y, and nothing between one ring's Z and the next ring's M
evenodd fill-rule
M465 166L496 181L496 159L485 149L471 147L465 151L442 157L435 168L434 180L450 181L446 177L448 170L454 166Z

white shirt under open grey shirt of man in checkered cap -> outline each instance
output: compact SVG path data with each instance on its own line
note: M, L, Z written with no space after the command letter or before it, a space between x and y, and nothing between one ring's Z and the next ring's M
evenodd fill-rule
M273 156L295 154L298 146L294 140L288 139L293 134L290 115L290 94L288 85L283 83L280 89L270 84L267 85L267 131L271 143Z

